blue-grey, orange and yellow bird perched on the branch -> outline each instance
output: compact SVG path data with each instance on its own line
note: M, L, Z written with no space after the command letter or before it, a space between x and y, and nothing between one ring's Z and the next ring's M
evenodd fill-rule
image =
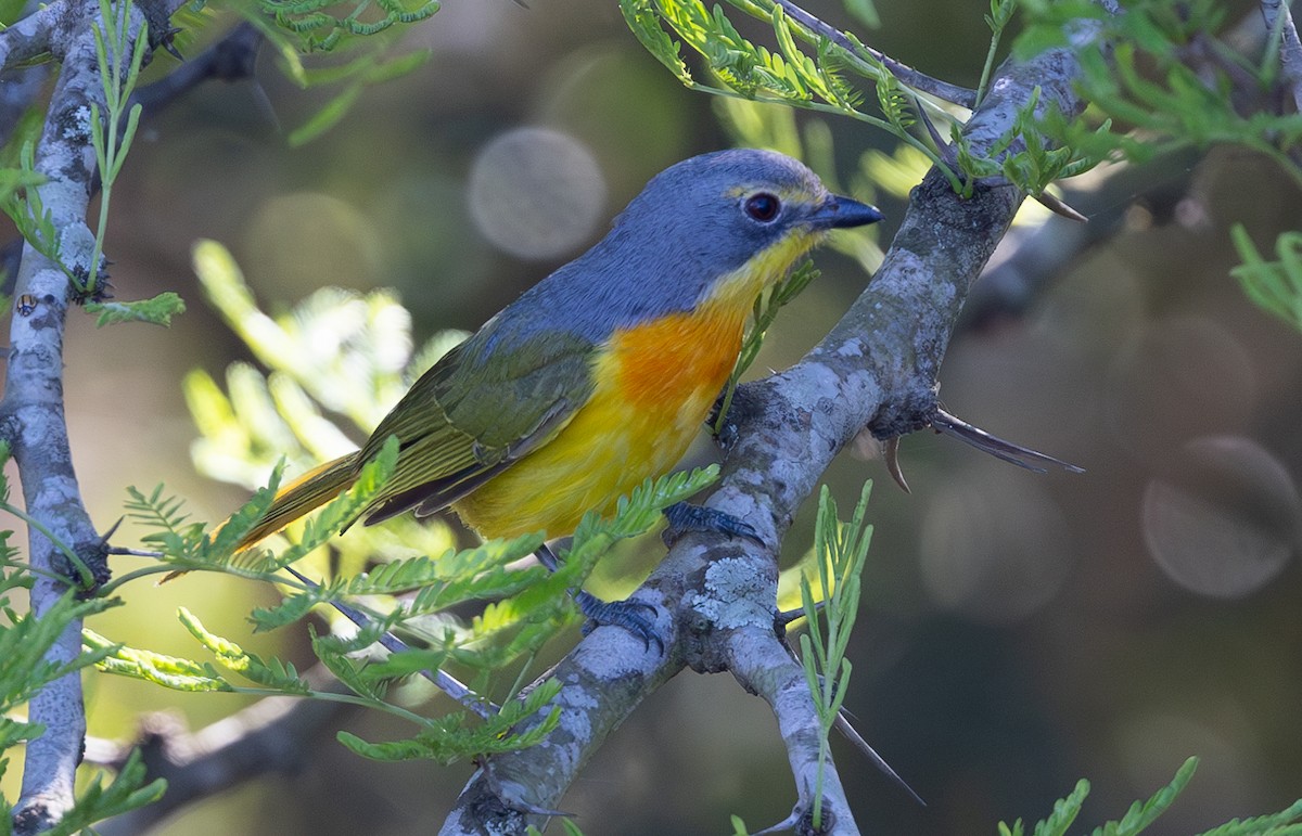
M881 217L775 151L671 165L598 244L444 354L358 451L285 484L240 547L350 487L391 436L397 464L366 525L450 508L486 539L573 534L684 456L760 292L829 230Z

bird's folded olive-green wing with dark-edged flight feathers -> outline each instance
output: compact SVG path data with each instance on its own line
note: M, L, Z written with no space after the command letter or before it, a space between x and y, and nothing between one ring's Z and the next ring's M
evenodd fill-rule
M362 447L368 461L391 435L398 462L367 525L419 505L457 501L569 423L592 392L595 346L542 332L493 349L488 328L440 359L398 401Z

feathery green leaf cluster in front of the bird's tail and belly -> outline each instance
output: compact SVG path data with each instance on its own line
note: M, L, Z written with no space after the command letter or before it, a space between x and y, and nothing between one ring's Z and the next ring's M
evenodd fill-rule
M357 496L341 497L332 505L352 509L355 516L357 504L365 505L367 501L366 491L378 490L387 471L392 470L396 452L396 444L391 441L375 466L375 475L363 473L359 479L359 483L367 483L363 491ZM536 651L560 626L569 622L574 609L566 591L582 583L600 555L616 542L648 530L659 521L665 507L698 492L716 477L716 469L706 469L647 481L620 501L613 517L589 514L556 573L547 573L536 566L508 569L509 564L517 563L542 544L540 535L527 535L448 552L439 559L418 556L380 564L374 572L336 577L323 585L299 583L293 589L296 585L279 578L293 591L281 604L251 613L250 620L258 629L293 624L319 604L346 599L353 606L358 596L375 600L397 592L414 592L388 611L368 606L372 620L352 635L312 633L316 658L350 694L316 689L293 664L245 651L237 642L207 630L186 609L178 613L182 625L214 656L216 664L125 647L89 630L85 633L85 642L100 656L100 669L165 688L342 701L385 711L417 725L413 736L384 744L368 744L355 736L340 733L340 742L368 758L428 758L448 763L466 757L521 749L542 741L555 728L559 710L544 708L556 695L559 684L540 684L519 699L506 701L500 711L483 721L477 721L467 711L452 711L441 716L419 715L392 701L388 690L397 681L422 671L443 668L448 663L470 667L487 676L521 654ZM270 488L267 494L271 494ZM266 552L255 559L241 560L241 552L224 555L223 550L229 551L238 542L241 529L256 522L259 507L264 507L260 497L241 509L216 534L208 534L202 531L202 526L189 522L177 500L160 497L159 491L147 497L135 491L132 500L132 513L137 520L158 529L154 535L146 536L147 542L184 551L180 555L164 555L164 568L215 570L270 581L277 579L277 569L301 559L305 550L314 547L316 536L328 538L349 518L348 513L335 514L328 507L314 523L316 535L307 536L301 544L280 553ZM309 526L309 530L314 526ZM137 577L139 574L143 573L135 573ZM124 579L130 577L124 576ZM441 634L432 634L415 624L421 619L445 615L453 606L496 595L506 598L488 604L466 630L448 629ZM423 647L376 658L370 650L385 632L404 632L426 639L426 643ZM230 675L238 675L253 685L242 685Z

